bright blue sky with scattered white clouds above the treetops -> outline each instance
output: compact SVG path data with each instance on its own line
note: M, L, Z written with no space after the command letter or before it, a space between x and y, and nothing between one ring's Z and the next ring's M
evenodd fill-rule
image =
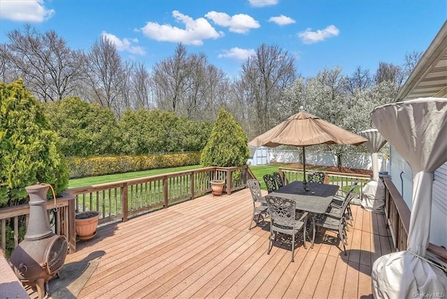
M332 66L351 74L374 72L380 61L400 65L406 53L425 51L446 19L446 0L0 0L0 42L27 22L72 49L89 50L105 35L148 69L181 42L232 76L265 43L293 54L308 77Z

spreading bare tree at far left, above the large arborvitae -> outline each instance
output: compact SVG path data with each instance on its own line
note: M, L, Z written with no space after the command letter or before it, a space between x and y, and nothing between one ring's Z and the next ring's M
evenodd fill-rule
M7 59L3 63L10 68L10 78L22 77L24 85L45 102L73 95L80 79L79 52L68 48L56 32L41 34L29 24L23 31L9 31L6 36L10 43L7 51L2 51L2 60Z

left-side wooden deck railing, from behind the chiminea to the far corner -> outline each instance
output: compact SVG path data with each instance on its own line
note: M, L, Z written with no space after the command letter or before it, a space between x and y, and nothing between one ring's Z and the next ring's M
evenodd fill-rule
M244 189L252 177L248 166L208 167L165 175L154 175L134 180L66 190L66 197L57 200L57 212L52 215L54 203L47 202L49 218L54 217L54 233L65 235L69 252L76 251L75 213L87 210L100 212L99 225L127 221L138 214L151 212L183 200L191 200L212 191L210 180L226 182L226 194ZM29 205L0 209L0 248L6 252L6 227L13 226L14 247L20 242L19 227L27 227ZM22 232L23 233L23 232Z

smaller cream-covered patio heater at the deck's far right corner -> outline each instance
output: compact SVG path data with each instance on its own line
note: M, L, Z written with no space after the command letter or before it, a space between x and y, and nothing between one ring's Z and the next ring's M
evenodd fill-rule
M372 180L362 189L362 207L365 210L383 212L385 207L385 184L379 180L379 159L377 152L385 145L386 140L377 129L361 131L359 135L367 138L365 143L372 156ZM383 162L382 162L383 163Z

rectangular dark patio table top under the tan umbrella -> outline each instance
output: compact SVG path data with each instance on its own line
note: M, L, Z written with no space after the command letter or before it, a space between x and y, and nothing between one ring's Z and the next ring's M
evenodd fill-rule
M315 214L324 214L334 198L338 185L307 183L308 191L300 181L294 181L268 194L295 200L296 209Z

